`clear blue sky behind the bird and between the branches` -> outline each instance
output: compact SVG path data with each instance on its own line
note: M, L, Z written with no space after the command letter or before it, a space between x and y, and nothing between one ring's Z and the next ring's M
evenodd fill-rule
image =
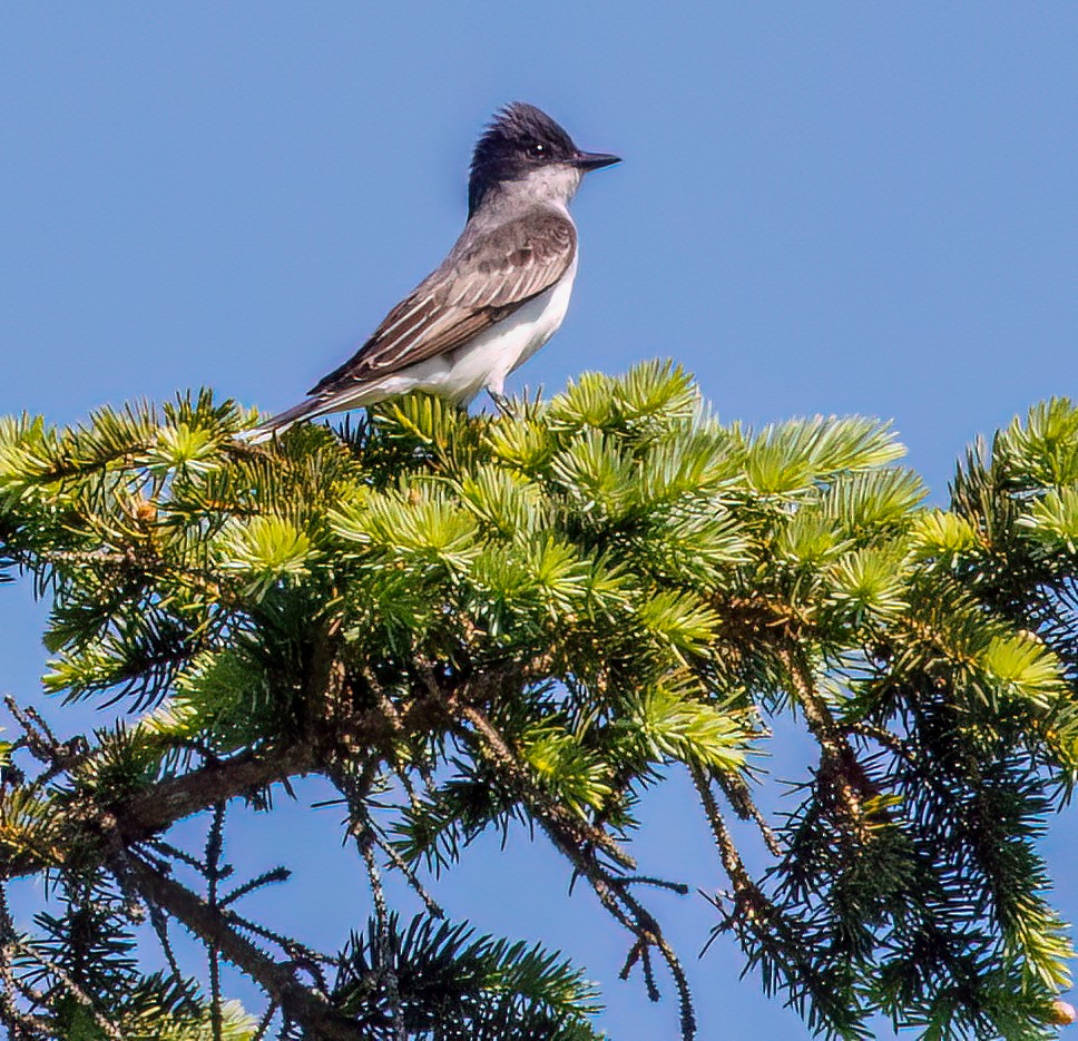
M940 498L973 435L1074 393L1076 56L1062 2L4 4L0 412L69 422L202 384L292 404L440 261L473 139L520 98L625 163L575 205L569 316L512 389L673 356L726 419L893 419ZM0 590L0 690L36 696L41 617ZM287 913L332 943L365 898L320 795L234 850L294 866ZM646 816L648 871L722 884L684 784ZM1072 920L1067 824L1047 847ZM612 1038L673 1034L542 845L486 844L458 874L453 914L605 984ZM702 1038L806 1037L728 946L695 961L698 898L656 905Z

